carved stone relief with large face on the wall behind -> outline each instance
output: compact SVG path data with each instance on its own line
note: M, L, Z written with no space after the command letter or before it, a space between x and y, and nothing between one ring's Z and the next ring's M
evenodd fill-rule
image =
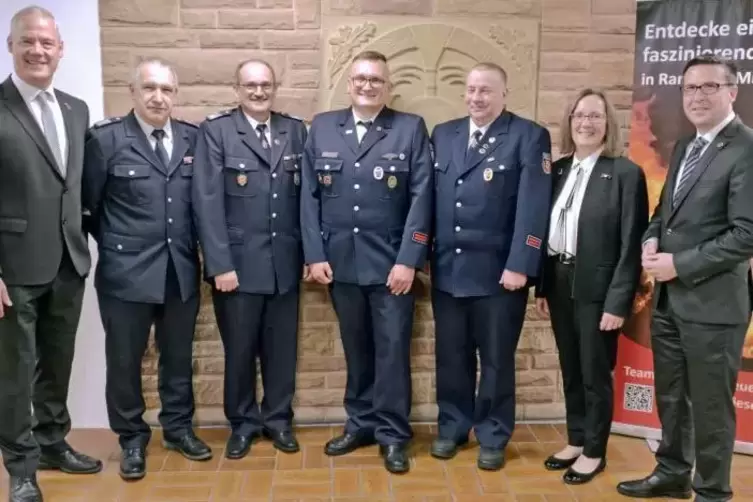
M392 75L390 106L421 115L429 130L466 114L465 76L477 62L493 61L508 74L508 108L535 118L538 88L539 23L511 20L437 20L426 18L323 19L325 68L321 110L350 104L347 79L358 52L387 56Z

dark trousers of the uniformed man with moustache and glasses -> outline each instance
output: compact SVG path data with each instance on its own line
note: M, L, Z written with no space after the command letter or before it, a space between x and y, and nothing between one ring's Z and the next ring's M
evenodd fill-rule
M292 427L298 357L298 289L285 294L213 292L225 348L225 416L235 434ZM256 358L264 398L256 399Z

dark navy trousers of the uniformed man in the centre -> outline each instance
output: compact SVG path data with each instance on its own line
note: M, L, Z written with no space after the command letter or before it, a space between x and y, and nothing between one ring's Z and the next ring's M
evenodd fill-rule
M405 444L410 426L412 293L393 295L386 286L330 285L340 323L347 382L347 432L379 444Z

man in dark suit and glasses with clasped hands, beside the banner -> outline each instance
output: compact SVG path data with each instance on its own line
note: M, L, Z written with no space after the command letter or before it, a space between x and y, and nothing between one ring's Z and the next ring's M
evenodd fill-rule
M753 130L735 116L737 68L715 57L687 63L683 107L694 137L675 146L644 237L643 266L657 281L652 319L657 467L620 483L634 497L732 497L735 392L750 321ZM695 476L691 471L695 463Z

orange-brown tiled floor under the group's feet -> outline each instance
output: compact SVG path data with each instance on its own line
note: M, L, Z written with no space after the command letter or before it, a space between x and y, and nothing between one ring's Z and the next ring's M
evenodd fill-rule
M142 481L125 483L118 477L119 450L106 431L75 431L71 443L86 453L106 458L104 471L95 476L40 474L45 502L561 502L630 500L618 495L621 480L642 476L653 467L644 441L613 436L609 466L584 487L569 487L542 466L546 456L563 444L561 426L519 426L507 452L505 468L496 473L475 467L475 448L449 462L429 453L431 428L418 426L412 451L413 465L404 476L388 474L376 447L329 458L323 444L338 429L321 427L298 431L302 450L279 453L268 441L254 444L243 460L227 460L223 449L227 431L203 429L199 435L214 448L209 462L189 462L166 452L155 432L148 455L148 474ZM737 500L753 501L753 458L736 456L734 489ZM0 477L0 500L7 479Z

